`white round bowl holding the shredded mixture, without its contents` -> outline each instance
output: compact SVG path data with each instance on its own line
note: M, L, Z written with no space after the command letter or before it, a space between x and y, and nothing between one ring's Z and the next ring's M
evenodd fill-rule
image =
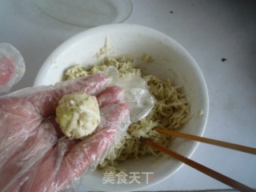
M201 70L194 58L178 42L166 34L145 26L131 24L98 26L75 35L50 54L39 70L34 86L60 82L63 71L75 64L87 66L96 63L97 58L94 57L94 54L104 46L106 38L110 40L109 56L132 54L134 57L141 57L142 54L150 54L154 58L154 62L142 67L142 73L154 74L162 79L170 78L174 85L184 87L187 100L191 104L191 113L198 114L200 110L204 113L197 118L192 118L184 126L182 132L202 135L208 115L208 94ZM176 138L170 148L177 151L178 154L190 157L197 145L198 142ZM108 182L103 184L102 173L94 171L86 176L82 185L104 191L141 190L169 178L182 165L182 162L173 158L146 157L139 161L129 160L122 163L122 166L126 167L128 177L132 176L131 172L137 172L141 183L132 182L118 185ZM152 175L148 175L149 179L146 181L146 173L143 174L143 172L153 172L154 178Z

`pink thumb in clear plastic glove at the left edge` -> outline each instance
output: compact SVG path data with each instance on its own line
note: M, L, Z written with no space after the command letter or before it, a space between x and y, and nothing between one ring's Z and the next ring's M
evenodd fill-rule
M22 54L9 43L0 43L0 93L9 92L25 73Z

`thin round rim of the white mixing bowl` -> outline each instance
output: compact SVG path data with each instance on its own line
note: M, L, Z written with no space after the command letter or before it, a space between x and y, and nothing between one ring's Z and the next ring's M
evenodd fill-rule
M166 38L169 39L171 42L174 42L175 46L178 46L178 48L180 50L182 50L183 54L186 54L186 57L188 57L191 61L191 63L193 64L194 69L196 70L197 74L198 74L198 78L200 79L201 85L200 87L202 88L202 98L204 98L203 101L203 112L204 112L204 119L202 120L202 129L198 132L199 136L202 136L206 130L206 123L208 120L208 115L209 115L209 95L208 95L208 90L207 90L207 86L206 86L206 80L202 75L202 71L200 70L200 67L198 66L198 63L194 60L194 58L192 57L192 55L178 42L176 42L173 38L170 38L170 36L168 36L167 34L162 33L161 31L158 30L154 30L148 26L140 26L140 25L134 25L134 24L130 24L130 23L118 23L118 24L109 24L109 25L104 25L104 26L96 26L93 28L90 28L89 30L84 30L78 34L75 34L73 37L68 38L65 42L62 42L62 44L60 44L49 56L48 58L46 58L46 61L42 64L40 70L38 71L38 75L35 78L34 81L34 86L38 86L41 85L41 79L43 79L43 71L47 70L50 68L50 66L52 65L51 63L51 59L55 57L55 55L59 55L62 54L62 52L64 50L66 50L66 48L68 48L69 46L72 46L72 44L74 44L74 42L77 42L79 39L81 38L85 38L86 36L90 36L91 34L94 33L98 33L99 31L107 31L107 30L113 30L116 28L120 28L120 27L124 27L124 28L130 28L132 27L137 28L138 30L146 30L149 31L150 33L154 33L154 34L158 34L160 37L162 38ZM194 142L194 146L191 148L191 150L187 153L186 157L190 158L193 154L194 151L198 148L198 144L199 142ZM180 162L177 166L177 168L174 169L174 171L170 174L168 174L165 177L159 178L158 181L156 182L152 182L152 183L148 183L147 185L142 185L142 186L138 186L136 188L131 188L130 190L142 190L145 189L147 187L150 186L154 186L164 180L166 180L167 178L170 178L171 175L173 175L174 173L176 173L179 169L182 168L182 166L184 166L185 164L183 162ZM90 185L82 185L82 186L89 186L91 188L93 188ZM126 191L126 190L123 190ZM127 190L128 191L128 190Z

